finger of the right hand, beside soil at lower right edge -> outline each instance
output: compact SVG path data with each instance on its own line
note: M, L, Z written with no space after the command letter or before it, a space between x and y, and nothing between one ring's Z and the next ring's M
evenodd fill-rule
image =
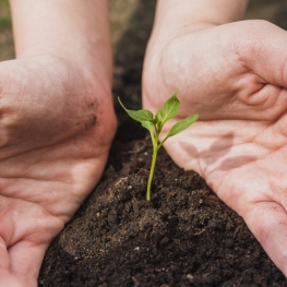
M287 214L275 202L252 206L243 218L274 264L287 277Z

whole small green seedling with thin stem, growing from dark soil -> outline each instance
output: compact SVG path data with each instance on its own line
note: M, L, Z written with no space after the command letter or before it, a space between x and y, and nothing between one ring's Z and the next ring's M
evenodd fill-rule
M145 129L147 129L151 133L152 142L153 142L153 158L152 158L151 171L150 171L147 187L146 187L146 200L151 201L151 189L152 189L152 182L153 182L153 177L155 172L155 164L156 164L158 150L163 146L163 144L168 137L186 130L190 124L196 121L199 119L199 113L187 117L180 120L179 122L175 123L169 130L169 132L167 133L166 137L162 142L159 142L159 134L162 132L164 124L169 119L175 118L179 112L180 103L177 97L177 93L172 95L164 104L164 106L155 113L155 116L153 115L152 111L147 109L140 109L140 110L127 109L122 105L120 98L118 99L119 99L120 105L127 111L127 113L135 121L140 121L142 125Z

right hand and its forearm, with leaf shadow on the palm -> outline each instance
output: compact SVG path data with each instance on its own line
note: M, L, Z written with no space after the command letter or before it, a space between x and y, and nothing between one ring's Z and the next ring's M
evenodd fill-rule
M211 13L212 2L158 1L143 105L156 111L179 92L179 116L162 139L200 112L165 148L243 217L287 276L287 33L265 21L229 23L241 17L244 1L216 1Z

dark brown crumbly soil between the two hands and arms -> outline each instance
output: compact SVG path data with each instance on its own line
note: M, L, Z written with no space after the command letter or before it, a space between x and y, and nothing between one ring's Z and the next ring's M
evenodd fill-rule
M249 11L274 2L285 1L253 1ZM141 105L141 70L155 1L136 4L115 47L113 94L130 108ZM287 10L286 3L282 7ZM151 141L115 105L119 129L106 171L51 243L39 286L287 286L242 218L164 150L152 201L145 201Z

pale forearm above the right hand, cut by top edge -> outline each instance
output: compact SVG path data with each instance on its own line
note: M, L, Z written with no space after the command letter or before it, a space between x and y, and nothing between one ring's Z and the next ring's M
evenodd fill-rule
M158 0L152 39L175 37L242 19L248 0ZM158 41L158 40L157 40Z

